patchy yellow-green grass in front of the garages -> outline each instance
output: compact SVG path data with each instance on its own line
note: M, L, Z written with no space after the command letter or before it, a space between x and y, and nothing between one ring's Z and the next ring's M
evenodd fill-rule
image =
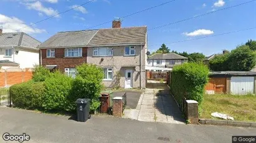
M235 121L256 122L255 95L204 95L200 105L200 118L216 119L214 112L224 113L234 117Z

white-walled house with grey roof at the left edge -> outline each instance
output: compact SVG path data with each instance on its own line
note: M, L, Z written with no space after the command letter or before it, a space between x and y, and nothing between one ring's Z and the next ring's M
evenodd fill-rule
M0 69L39 64L39 45L40 41L24 32L2 33L0 29Z

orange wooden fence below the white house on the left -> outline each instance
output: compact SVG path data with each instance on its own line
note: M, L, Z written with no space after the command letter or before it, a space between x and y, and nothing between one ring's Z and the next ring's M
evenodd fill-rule
M19 67L0 69L0 88L31 80L33 71L32 68L20 69Z

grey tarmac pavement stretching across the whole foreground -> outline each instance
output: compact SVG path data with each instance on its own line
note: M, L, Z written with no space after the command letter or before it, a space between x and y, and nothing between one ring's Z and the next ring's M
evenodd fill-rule
M232 142L235 135L255 135L256 128L141 122L112 116L92 116L81 123L69 116L17 108L0 108L2 134L26 133L26 142Z

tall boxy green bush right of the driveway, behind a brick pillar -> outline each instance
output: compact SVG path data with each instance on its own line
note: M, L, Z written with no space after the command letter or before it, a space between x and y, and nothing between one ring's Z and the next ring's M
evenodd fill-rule
M171 72L171 92L177 102L181 104L183 98L196 100L199 104L203 100L204 87L208 82L209 69L203 64L184 63L174 66Z

